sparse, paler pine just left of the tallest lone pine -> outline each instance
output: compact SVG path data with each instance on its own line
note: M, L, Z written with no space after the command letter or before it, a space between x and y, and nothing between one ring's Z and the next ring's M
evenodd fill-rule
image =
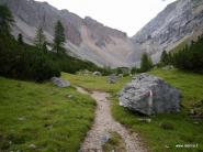
M46 42L46 37L44 35L44 31L42 29L42 26L38 26L36 29L36 34L35 34L35 39L34 39L34 44L35 46L40 50L43 51L43 44Z

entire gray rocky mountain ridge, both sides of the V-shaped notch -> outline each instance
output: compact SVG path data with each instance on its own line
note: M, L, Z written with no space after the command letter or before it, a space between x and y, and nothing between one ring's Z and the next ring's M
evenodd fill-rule
M177 0L169 4L135 36L108 28L87 17L81 19L68 10L57 10L47 2L0 0L14 14L13 35L22 33L33 43L35 30L43 26L47 41L53 41L54 25L65 25L67 53L100 66L129 67L139 65L144 52L157 63L163 50L194 40L203 33L203 0Z

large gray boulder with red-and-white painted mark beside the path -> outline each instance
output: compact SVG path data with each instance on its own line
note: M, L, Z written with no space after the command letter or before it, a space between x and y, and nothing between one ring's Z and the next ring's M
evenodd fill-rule
M120 93L120 106L151 116L180 110L180 93L162 79L140 74Z

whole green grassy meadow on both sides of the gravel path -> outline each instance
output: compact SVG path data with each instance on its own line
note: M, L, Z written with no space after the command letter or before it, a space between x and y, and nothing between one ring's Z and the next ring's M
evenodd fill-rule
M117 93L131 80L119 78L109 84L108 77L82 76L63 73L72 86L111 94L113 117L131 131L139 134L143 143L153 152L203 151L203 122L189 117L194 105L203 100L203 75L179 70L151 70L180 89L181 112L145 118L119 106ZM50 83L35 84L0 77L0 151L68 151L76 152L91 127L95 102L74 87L57 88ZM119 138L106 143L104 150L120 143ZM176 148L192 144L196 148Z

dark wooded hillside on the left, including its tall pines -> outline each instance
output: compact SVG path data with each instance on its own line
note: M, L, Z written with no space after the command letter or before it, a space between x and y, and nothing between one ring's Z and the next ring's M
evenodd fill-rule
M80 61L65 54L64 28L59 21L55 28L54 47L47 51L46 37L41 26L36 29L33 45L29 45L23 42L21 33L18 40L10 34L14 20L5 6L0 6L0 19L1 76L43 82L53 76L60 76L60 72L75 74L80 69L88 69L100 70L102 74L109 73L91 62Z

